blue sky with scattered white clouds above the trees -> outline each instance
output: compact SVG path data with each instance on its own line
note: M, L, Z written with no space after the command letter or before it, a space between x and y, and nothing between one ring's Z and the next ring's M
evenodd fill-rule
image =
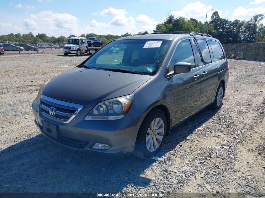
M249 20L265 15L265 0L0 0L0 8L0 35L32 32L58 37L150 33L169 13L205 22L210 9L229 20ZM209 11L207 21L214 11Z

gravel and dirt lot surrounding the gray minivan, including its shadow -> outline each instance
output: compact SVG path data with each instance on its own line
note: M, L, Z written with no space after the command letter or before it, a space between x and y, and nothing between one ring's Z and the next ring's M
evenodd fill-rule
M87 57L0 56L0 192L265 192L265 63L229 60L221 109L172 129L155 159L103 159L47 140L31 111L45 80Z

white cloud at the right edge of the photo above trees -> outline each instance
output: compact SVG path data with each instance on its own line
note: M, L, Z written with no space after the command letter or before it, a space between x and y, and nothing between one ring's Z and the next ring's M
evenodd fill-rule
M232 14L232 20L235 20L235 19L249 20L253 16L257 14L263 14L263 13L265 13L264 7L244 8L243 6L240 6L234 10Z

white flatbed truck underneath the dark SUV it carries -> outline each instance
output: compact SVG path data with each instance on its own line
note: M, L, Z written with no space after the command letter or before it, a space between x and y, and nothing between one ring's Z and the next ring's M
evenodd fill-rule
M87 38L85 37L71 37L68 38L66 45L63 47L63 54L90 54L96 52L100 47L88 47Z

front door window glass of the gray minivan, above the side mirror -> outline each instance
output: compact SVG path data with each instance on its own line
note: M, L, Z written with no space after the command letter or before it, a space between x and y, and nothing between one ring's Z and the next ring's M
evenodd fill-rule
M175 65L178 62L186 62L191 63L191 68L195 67L193 51L188 39L178 43L171 60L172 65Z

